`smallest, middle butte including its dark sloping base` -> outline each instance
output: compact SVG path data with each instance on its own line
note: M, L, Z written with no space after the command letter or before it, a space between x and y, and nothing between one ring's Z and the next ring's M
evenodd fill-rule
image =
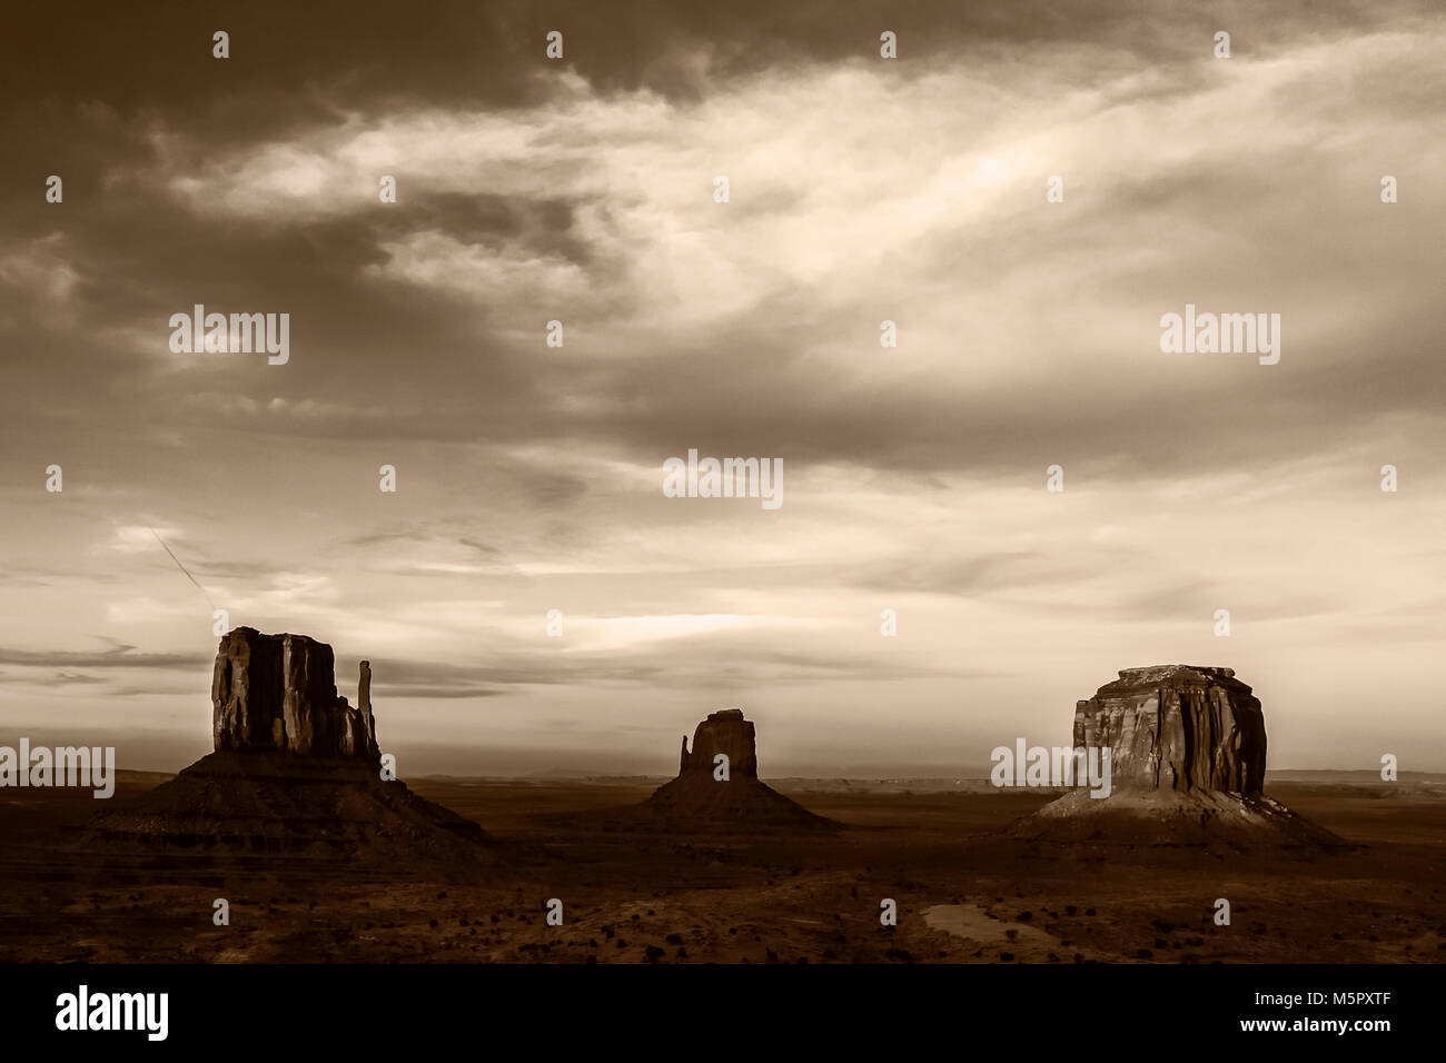
M729 758L727 780L714 775L719 754ZM710 713L698 723L691 752L684 735L678 777L659 787L643 810L655 826L688 833L839 829L758 778L753 723L740 709Z

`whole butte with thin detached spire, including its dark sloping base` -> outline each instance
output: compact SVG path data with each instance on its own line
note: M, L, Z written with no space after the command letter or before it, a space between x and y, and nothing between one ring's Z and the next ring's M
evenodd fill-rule
M399 874L493 862L482 827L380 777L370 678L363 661L353 707L337 696L331 646L237 628L213 673L215 752L98 813L82 845Z

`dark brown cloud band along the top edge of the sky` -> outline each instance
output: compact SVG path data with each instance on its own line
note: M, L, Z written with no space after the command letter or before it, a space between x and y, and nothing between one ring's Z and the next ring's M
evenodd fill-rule
M732 0L441 0L392 3L220 0L143 4L116 19L101 0L58 1L12 14L0 68L13 98L110 100L130 110L182 114L220 110L228 132L247 135L276 121L343 106L466 103L523 106L545 90L529 82L547 32L567 36L567 64L604 91L649 88L690 95L703 88L687 61L709 56L722 81L772 67L873 56L884 29L899 33L901 55L937 62L951 52L1024 45L1086 43L1150 61L1184 61L1199 49L1181 29L1235 25L1242 45L1278 46L1303 33L1362 33L1426 17L1426 3L1293 0L1268 12L1248 3L1161 3L1142 9L1111 0L891 0L836 3ZM111 17L107 17L111 16ZM231 59L217 78L211 35L231 35ZM46 56L48 77L20 72Z

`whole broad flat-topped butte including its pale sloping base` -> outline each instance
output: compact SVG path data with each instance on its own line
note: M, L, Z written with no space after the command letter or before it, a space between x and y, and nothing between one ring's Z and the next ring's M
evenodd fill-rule
M1025 840L1349 848L1265 797L1265 714L1231 668L1126 668L1074 706L1074 748L1109 751L1111 793L1074 790L1009 829ZM1096 752L1099 751L1099 752Z

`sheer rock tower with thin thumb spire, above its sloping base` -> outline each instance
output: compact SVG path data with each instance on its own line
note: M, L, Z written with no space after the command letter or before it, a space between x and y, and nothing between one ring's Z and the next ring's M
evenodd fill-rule
M307 635L236 628L221 638L211 677L218 752L279 751L376 762L372 668L362 662L357 700L337 696L331 646Z

